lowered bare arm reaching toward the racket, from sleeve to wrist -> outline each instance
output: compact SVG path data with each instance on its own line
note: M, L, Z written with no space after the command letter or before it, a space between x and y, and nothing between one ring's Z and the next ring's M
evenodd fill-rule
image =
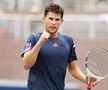
M68 70L72 76L76 79L86 83L86 76L81 72L80 68L77 66L76 61L72 61L68 64Z

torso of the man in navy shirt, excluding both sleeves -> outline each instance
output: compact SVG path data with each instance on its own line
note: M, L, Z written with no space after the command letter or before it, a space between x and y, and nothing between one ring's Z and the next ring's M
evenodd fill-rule
M37 61L30 70L29 84L38 90L64 90L70 48L71 43L69 45L65 38L49 38L41 47Z

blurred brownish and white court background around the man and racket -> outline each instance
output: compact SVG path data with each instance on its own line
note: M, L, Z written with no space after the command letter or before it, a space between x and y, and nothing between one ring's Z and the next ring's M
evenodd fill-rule
M30 33L44 30L41 17L50 2L65 9L60 32L74 38L78 64L85 74L87 51L92 47L108 49L108 0L0 0L0 90L26 87L28 71L21 66L21 50ZM93 90L107 90L107 83L108 78ZM67 72L66 88L86 90L86 85Z

